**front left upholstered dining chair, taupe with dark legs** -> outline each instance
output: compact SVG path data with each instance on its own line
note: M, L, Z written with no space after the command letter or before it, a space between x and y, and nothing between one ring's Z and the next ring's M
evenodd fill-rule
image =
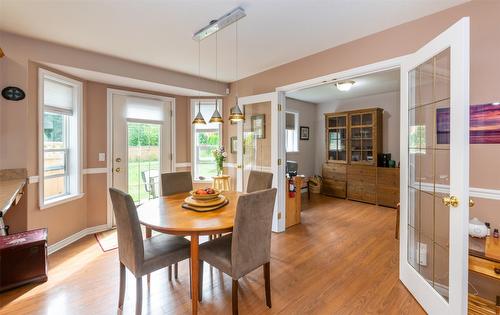
M142 309L142 276L171 266L190 257L190 243L178 236L156 235L142 238L142 230L132 197L118 189L110 188L111 202L118 231L118 256L120 259L120 293L118 309L125 297L125 268L136 278L136 314Z

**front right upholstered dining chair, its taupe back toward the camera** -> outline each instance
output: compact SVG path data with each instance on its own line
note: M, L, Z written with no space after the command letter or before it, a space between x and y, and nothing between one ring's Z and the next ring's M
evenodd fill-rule
M263 266L266 304L271 307L271 226L276 191L272 188L240 196L233 233L200 245L200 301L206 261L233 279L233 314L238 314L238 279Z

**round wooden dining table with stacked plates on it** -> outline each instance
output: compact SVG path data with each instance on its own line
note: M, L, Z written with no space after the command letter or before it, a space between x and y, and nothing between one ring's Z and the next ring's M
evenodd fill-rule
M188 193L159 197L145 202L137 208L139 221L146 227L146 237L151 230L165 234L191 237L191 299L192 313L198 313L199 286L199 238L200 235L227 233L233 230L236 205L241 193L224 192L229 200L224 207L197 212L182 207Z

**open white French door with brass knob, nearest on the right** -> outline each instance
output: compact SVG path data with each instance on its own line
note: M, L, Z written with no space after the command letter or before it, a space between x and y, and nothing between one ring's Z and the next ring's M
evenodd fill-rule
M429 314L466 314L468 18L403 62L401 132L400 278Z

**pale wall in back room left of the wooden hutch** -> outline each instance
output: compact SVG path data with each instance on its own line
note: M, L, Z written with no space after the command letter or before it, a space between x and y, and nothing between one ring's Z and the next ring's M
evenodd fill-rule
M286 110L299 113L299 126L309 127L309 140L299 140L299 152L287 153L287 160L299 163L298 173L312 176L314 172L316 150L316 117L317 104L302 102L292 98L286 99ZM299 129L300 130L300 129Z

